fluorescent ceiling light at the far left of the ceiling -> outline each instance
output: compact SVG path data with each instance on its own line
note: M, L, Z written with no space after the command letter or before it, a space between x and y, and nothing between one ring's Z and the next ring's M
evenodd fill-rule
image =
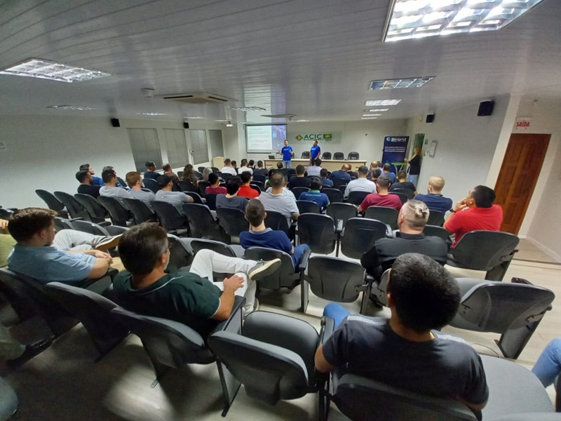
M42 60L41 58L30 58L26 62L1 71L0 74L37 77L39 79L68 83L111 76L109 73L100 72L99 70L83 69L82 67L64 65Z

